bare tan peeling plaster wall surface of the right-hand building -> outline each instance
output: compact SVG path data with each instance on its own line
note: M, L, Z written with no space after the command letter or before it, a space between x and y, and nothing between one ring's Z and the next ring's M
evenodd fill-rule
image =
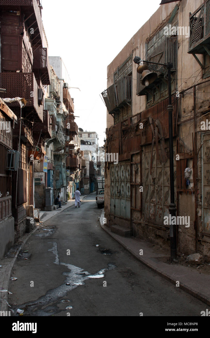
M150 18L150 22L147 21L138 32L130 39L121 52L114 58L112 63L107 67L107 88L113 84L113 73L117 70L126 58L132 53L132 59L134 56L140 56L143 58L146 54L145 42L164 26L164 22L167 22L175 5L179 6L178 25L189 26L189 13L193 13L200 5L203 4L203 0L190 1L183 0L181 2L173 2L166 5L161 5L159 9ZM203 79L202 68L196 62L192 54L188 54L189 39L185 35L178 35L178 66L177 66L177 91L183 91L193 84L205 81L209 78ZM197 55L201 62L203 62L203 55ZM132 115L145 110L146 97L138 97L136 95L136 67L133 63L132 70ZM210 110L210 82L196 87L196 118L197 118L197 130L201 130L200 122L206 120L206 117L202 118L208 110ZM180 95L181 96L181 95ZM179 107L179 121L184 121L188 118L194 117L194 102L193 102L193 88L184 93L184 97L180 97L178 100ZM201 117L201 118L200 118ZM210 121L210 117L209 117ZM113 125L113 118L107 113L107 128ZM192 133L194 134L194 119L179 124L177 127L177 136L184 141L185 149L180 152L192 152L193 142ZM204 255L207 261L210 261L210 235L203 233L202 224L202 136L201 132L197 132L197 151L198 151L198 210L195 211L195 195L190 192L178 192L177 200L177 215L189 216L190 226L185 225L177 226L178 230L178 252L185 254L192 254L195 250L195 229L194 221L195 215L198 215L198 252ZM139 151L140 151L139 145ZM187 159L186 167L191 168L190 175L191 188L193 189L193 158ZM107 169L107 178L105 179L105 217L107 218L107 225L117 224L115 220L110 219L110 171ZM140 213L135 212L133 214L133 235L142 239L146 239L154 244L169 247L169 231L161 228L161 226L149 225L140 217ZM137 221L135 223L135 221Z

